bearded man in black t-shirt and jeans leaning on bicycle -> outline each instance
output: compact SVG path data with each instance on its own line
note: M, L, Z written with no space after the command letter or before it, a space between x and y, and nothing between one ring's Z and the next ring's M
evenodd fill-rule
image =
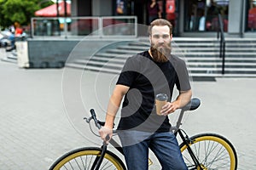
M147 170L150 148L162 169L188 169L167 116L191 99L188 71L184 61L171 54L172 24L169 21L154 20L148 33L151 46L126 60L109 99L105 125L99 133L103 140L112 137L114 118L125 96L118 134L127 168ZM175 85L179 94L172 101ZM156 94L168 96L160 115L154 105Z

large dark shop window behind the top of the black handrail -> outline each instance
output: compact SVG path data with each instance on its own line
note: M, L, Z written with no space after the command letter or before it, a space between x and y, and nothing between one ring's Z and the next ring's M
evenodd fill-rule
M218 14L228 31L229 0L187 0L184 31L218 31Z

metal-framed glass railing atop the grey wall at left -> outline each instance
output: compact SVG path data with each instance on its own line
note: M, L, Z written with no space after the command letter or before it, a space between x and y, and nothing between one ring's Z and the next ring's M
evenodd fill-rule
M137 37L137 16L34 17L31 37Z

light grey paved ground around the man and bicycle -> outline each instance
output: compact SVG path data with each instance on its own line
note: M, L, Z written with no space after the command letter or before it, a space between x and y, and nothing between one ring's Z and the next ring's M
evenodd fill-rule
M96 146L80 116L90 108L103 112L115 78L79 70L25 70L0 61L0 169L45 170L68 150ZM185 117L183 128L191 135L223 134L236 147L238 169L256 169L256 79L218 78L192 86L202 105ZM158 169L156 162L151 169Z

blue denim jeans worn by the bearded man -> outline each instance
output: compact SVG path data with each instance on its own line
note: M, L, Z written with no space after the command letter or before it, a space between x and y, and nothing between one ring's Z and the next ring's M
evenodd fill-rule
M119 133L119 139L128 170L148 170L148 148L154 152L163 170L188 169L172 132L125 131Z

